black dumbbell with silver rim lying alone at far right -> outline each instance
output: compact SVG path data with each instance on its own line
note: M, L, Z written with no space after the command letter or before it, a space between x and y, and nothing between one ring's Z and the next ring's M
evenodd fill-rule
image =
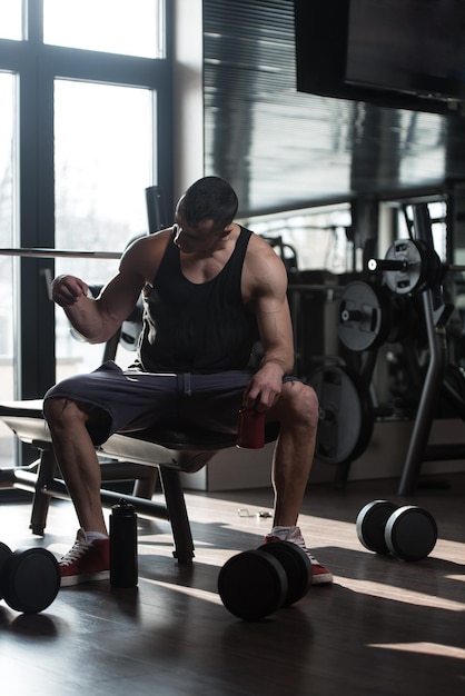
M416 505L398 507L389 500L373 500L357 515L357 536L365 548L392 554L400 560L422 560L435 547L434 517Z

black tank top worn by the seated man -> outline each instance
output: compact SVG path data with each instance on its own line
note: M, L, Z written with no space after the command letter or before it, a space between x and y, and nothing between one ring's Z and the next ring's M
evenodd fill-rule
M240 281L250 230L211 280L194 284L181 271L171 236L145 299L139 367L149 372L217 372L247 367L257 337L255 316L244 306Z

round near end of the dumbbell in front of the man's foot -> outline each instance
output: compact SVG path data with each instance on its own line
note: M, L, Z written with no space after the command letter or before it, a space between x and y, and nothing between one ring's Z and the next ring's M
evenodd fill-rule
M246 622L256 622L285 601L286 573L270 554L243 551L229 558L219 571L218 594L228 612Z

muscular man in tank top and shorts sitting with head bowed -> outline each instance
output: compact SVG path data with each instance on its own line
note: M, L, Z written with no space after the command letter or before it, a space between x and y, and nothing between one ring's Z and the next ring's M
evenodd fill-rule
M52 286L75 329L105 342L140 294L144 322L129 369L103 364L52 387L44 415L80 528L60 561L62 586L109 577L109 541L95 446L112 432L186 422L234 432L241 407L279 422L273 459L273 528L267 541L298 544L314 584L330 571L297 526L314 457L318 404L291 376L294 346L287 275L260 237L235 222L235 191L219 177L196 181L180 198L171 228L135 241L97 299L86 282L60 276ZM251 360L259 338L263 352Z

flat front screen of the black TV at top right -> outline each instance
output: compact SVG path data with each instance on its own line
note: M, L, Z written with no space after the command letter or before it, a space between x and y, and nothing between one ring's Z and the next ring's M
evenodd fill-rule
M464 0L350 0L346 80L465 100Z

